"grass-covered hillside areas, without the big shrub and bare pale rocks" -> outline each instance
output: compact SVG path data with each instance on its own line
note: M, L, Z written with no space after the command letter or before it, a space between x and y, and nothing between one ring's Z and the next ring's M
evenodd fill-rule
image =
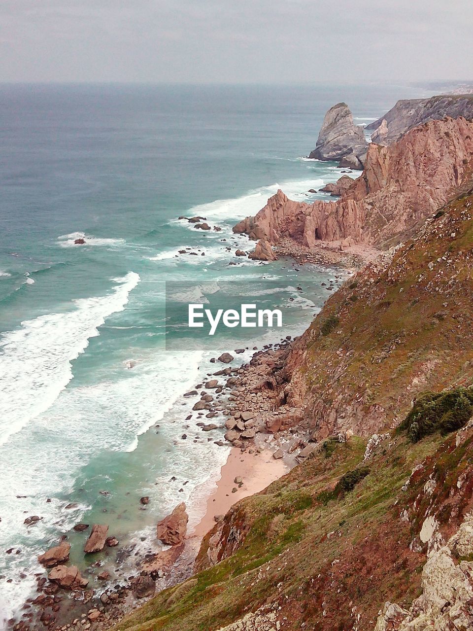
M368 384L365 404L381 404L388 420L400 420L416 391L470 384L472 204L471 194L454 201L380 276L362 274L329 300L307 336L301 369L314 390L326 399L342 393L349 400ZM321 336L330 316L338 322ZM336 379L324 370L330 361L341 369ZM233 523L248 529L240 549L158 594L117 628L213 631L277 602L282 628L305 622L305 628L344 630L358 620L362 630L373 627L384 601L408 606L419 594L426 558L425 546L412 551L409 545L419 543L426 510L436 509L448 534L470 507L471 439L455 448L453 435L435 433L413 444L405 432L393 433L363 463L370 473L353 490L338 492L337 482L362 465L364 451L365 442L356 437L327 442L266 492L239 502ZM403 492L421 462L424 469ZM460 473L469 482L458 490ZM426 497L429 476L438 485ZM404 509L409 521L400 519Z

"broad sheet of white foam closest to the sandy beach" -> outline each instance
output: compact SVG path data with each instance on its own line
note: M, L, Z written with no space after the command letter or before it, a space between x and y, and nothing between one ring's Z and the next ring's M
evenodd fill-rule
M78 476L83 475L84 466L101 454L137 449L139 435L165 417L170 435L177 439L182 430L179 423L173 422L176 412L171 415L172 420L168 420L168 413L180 393L196 382L201 357L201 350L177 350L163 358L150 349L139 357L133 370L120 371L119 379L64 389L46 412L11 436L8 444L0 445L0 514L4 526L0 529L0 550L11 546L22 549L21 555L7 559L8 575L13 579L12 583L3 584L8 618L34 591L34 572L42 571L36 558L47 547L45 542L57 538L58 531L67 533L90 509L86 502L79 502L74 509L64 511L67 500L57 498L57 494L73 488ZM179 406L177 418L181 410ZM199 454L199 480L204 479L204 471L209 468L206 457L212 449L207 444L204 448ZM216 451L217 447L213 449ZM192 452L189 457L197 461L194 449ZM180 454L177 449L177 471L183 471ZM149 464L150 469L153 466L161 470L160 458ZM197 475L195 465L194 470ZM158 493L158 504L161 488L152 486ZM176 492L174 488L169 504L178 500ZM51 501L45 502L46 498ZM44 519L26 529L25 510ZM32 581L20 578L26 565Z

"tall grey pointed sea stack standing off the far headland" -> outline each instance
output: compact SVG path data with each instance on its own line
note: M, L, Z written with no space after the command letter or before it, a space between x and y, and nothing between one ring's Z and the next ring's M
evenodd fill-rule
M363 168L367 150L363 126L354 124L346 103L337 103L325 114L317 144L309 158L336 161L341 167Z

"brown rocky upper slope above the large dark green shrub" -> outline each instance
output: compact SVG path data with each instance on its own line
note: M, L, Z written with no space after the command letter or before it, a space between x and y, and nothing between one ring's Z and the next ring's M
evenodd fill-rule
M419 392L473 380L473 196L346 283L289 357L315 437L394 427Z

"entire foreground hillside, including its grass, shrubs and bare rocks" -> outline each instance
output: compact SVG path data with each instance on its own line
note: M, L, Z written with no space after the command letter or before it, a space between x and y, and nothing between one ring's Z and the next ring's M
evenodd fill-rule
M277 366L310 456L235 504L199 571L115 628L471 628L472 272L469 185L330 298L284 379Z

